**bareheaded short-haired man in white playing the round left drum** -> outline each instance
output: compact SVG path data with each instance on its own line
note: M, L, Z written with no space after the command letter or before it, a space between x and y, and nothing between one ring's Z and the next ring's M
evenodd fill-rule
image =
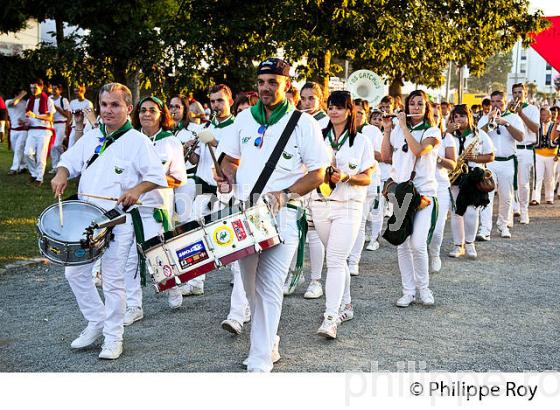
M154 204L142 198L155 188L167 187L161 161L150 140L132 128L128 116L132 112L132 93L118 83L105 84L99 91L103 124L80 138L60 159L51 181L55 195L62 195L68 178L81 175L78 192L117 197L117 205L130 207L142 199L144 205L161 204L154 195ZM150 198L152 197L150 196ZM113 201L81 197L103 209L115 206ZM147 208L150 209L150 208ZM141 215L143 217L143 215ZM113 228L114 239L102 256L103 296L99 297L91 280L93 263L67 266L65 275L80 311L88 325L72 343L82 349L105 336L99 357L117 359L123 350L123 322L126 310L125 265L134 245L132 218ZM142 218L144 229L157 231L161 225L152 215Z

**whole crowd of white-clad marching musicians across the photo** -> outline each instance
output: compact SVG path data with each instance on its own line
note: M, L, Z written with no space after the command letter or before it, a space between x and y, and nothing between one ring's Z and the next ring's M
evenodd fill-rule
M317 334L336 339L338 328L359 314L351 280L360 275L362 252L375 252L381 238L397 245L402 288L396 306L431 306L430 274L443 269L448 215L449 257L473 259L475 242L490 240L494 223L501 238L511 238L514 223L530 223L529 207L541 203L543 185L545 204L554 201L559 108L530 104L524 84L513 85L509 99L494 91L475 110L433 102L422 90L404 102L385 96L370 107L348 91L325 96L313 82L298 90L289 71L285 61L269 58L258 66L257 92L234 99L218 84L208 90L210 110L192 95L168 101L151 95L133 104L130 90L118 83L100 89L98 113L84 87L68 102L60 85L49 96L41 80L31 84L29 98L22 89L6 101L10 175L27 170L30 183L40 186L50 153L55 195L79 176L81 200L129 211L97 265L65 268L88 323L73 349L103 336L99 357L121 355L124 327L144 315L137 243L254 194L270 204L283 241L231 264L230 312L221 323L239 335L251 321L244 364L253 372L269 372L280 359L283 297L306 282L302 237L310 263L303 297L324 296ZM211 140L201 142L202 133ZM104 300L92 272L101 272ZM203 295L206 280L201 275L167 290L169 306Z

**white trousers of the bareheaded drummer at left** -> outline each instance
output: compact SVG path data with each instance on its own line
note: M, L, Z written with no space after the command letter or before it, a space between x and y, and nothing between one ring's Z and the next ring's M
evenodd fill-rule
M88 326L102 328L106 342L123 339L126 308L124 272L130 248L134 245L132 222L127 220L125 224L117 225L113 234L115 238L102 256L105 302L101 301L91 280L93 262L81 266L67 266L64 271Z

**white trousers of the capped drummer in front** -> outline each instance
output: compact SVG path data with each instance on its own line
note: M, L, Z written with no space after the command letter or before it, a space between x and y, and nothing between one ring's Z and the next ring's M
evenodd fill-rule
M239 260L251 307L248 369L272 370L272 348L282 313L284 282L298 246L297 217L296 210L282 208L277 221L284 243Z

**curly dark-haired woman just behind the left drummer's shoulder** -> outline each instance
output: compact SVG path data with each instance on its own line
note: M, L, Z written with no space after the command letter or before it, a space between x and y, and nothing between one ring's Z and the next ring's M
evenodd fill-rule
M173 136L173 119L163 101L150 96L140 100L132 113L132 125L152 141L163 168L168 188L157 191L163 198L163 209L154 210L154 218L162 219L165 230L173 229L174 194L173 189L181 186L187 180L185 161L182 156L182 145ZM148 193L147 195L150 195ZM149 209L149 208L146 208ZM141 210L145 212L145 209ZM151 211L151 210L150 210ZM157 215L156 215L157 212ZM145 237L145 240L150 237ZM144 317L142 308L142 288L140 275L137 274L138 255L136 247L131 247L125 269L126 313L124 325L129 326ZM169 306L173 309L183 304L183 295L179 288L169 289L167 292Z

